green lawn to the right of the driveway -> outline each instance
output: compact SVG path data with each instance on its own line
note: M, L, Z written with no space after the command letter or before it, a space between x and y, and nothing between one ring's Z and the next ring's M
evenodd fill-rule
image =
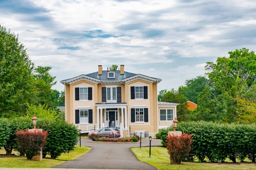
M165 147L151 147L151 158L149 158L149 147L131 148L132 152L140 161L153 165L159 170L256 170L253 163L195 163L183 162L180 165L169 164L169 154Z

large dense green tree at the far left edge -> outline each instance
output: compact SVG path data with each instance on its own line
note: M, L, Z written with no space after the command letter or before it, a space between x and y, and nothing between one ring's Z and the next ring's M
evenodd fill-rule
M18 36L0 26L0 116L23 115L34 93L32 68Z

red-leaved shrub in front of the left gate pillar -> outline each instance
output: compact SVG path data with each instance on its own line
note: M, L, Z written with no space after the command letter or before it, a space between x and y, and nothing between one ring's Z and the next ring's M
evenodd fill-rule
M17 131L16 136L19 150L26 154L28 160L31 160L45 146L47 134L47 131L41 132L39 130Z

